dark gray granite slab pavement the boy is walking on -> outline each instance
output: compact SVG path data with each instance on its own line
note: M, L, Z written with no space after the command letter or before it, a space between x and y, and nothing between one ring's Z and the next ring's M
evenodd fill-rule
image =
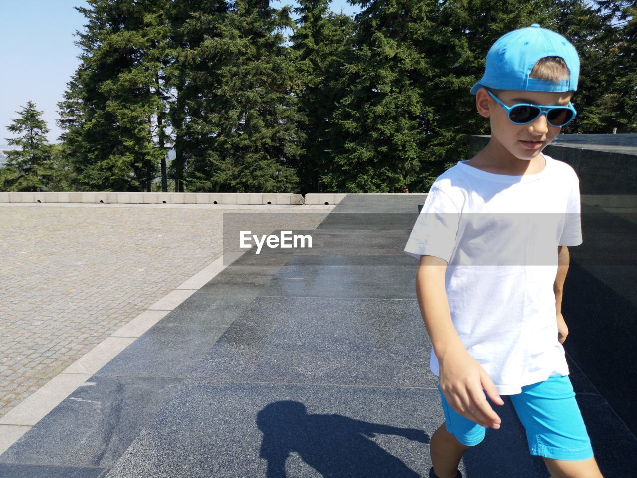
M431 343L402 252L423 195L348 195L314 250L247 253L0 454L7 478L427 477L443 423ZM605 478L637 440L578 366ZM547 478L510 400L466 478Z

